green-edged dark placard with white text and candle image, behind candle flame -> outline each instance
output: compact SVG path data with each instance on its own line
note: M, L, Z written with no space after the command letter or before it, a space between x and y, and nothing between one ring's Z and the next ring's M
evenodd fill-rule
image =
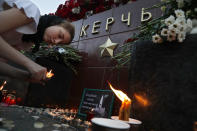
M111 90L87 89L83 91L78 115L87 116L94 111L96 116L110 118L114 103L114 93Z

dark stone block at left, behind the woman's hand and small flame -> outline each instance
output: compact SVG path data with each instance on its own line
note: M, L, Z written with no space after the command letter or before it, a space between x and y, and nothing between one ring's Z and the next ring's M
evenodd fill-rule
M54 76L44 86L30 84L25 105L51 108L65 107L74 75L72 70L46 58L37 59L37 63L47 67L48 71L52 69Z

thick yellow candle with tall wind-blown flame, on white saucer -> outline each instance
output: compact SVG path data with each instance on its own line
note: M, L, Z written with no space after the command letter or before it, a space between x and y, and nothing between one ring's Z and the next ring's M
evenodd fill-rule
M131 99L122 91L116 90L108 83L111 90L116 94L116 96L122 101L122 105L119 110L119 120L129 121L130 109L131 109Z

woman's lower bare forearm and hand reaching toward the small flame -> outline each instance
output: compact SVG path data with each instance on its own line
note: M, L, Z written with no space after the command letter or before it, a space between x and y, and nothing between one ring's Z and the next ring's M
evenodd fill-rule
M30 73L31 78L41 81L46 79L47 69L36 64L19 51L11 47L1 36L0 36L0 56L8 59L16 64L26 67Z

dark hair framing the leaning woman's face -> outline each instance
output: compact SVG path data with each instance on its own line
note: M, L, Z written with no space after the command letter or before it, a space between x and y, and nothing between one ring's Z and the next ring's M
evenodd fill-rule
M36 44L37 48L39 48L39 43L43 41L43 36L46 28L54 25L59 25L65 28L69 32L71 36L70 42L72 42L75 35L74 26L70 22L66 21L65 19L55 15L41 16L37 27L37 32L35 34L24 34L22 36L22 41L33 42Z

